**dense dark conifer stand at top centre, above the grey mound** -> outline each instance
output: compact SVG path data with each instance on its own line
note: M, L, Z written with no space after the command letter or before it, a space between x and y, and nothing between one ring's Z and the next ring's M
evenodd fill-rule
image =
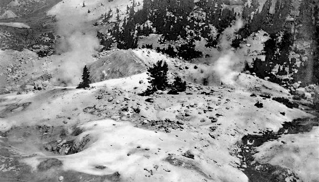
M136 3L127 7L128 18L117 22L111 35L118 43L119 49L137 47L138 37L151 33L162 35L161 42L191 38L207 40L207 47L215 47L218 37L211 34L214 26L221 33L237 16L233 9L222 8L222 0L199 0L196 5L205 11L204 17L193 15L194 0L144 0L143 7L135 11ZM105 16L108 20L110 12ZM149 22L149 23L146 23ZM190 46L193 47L193 46Z

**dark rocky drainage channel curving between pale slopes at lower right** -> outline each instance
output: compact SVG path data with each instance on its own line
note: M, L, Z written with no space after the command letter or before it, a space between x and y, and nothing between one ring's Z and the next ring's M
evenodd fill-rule
M242 143L238 144L239 150L236 152L237 157L241 160L239 168L248 177L249 182L302 182L291 170L281 166L260 164L254 161L253 155L257 153L256 147L265 142L277 140L285 134L310 132L314 126L319 126L319 117L285 122L278 132L265 131L260 135L245 135Z

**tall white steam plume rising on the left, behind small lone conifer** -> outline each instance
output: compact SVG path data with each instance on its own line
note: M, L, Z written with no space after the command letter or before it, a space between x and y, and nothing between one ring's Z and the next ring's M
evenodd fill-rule
M53 63L55 84L75 86L79 83L84 65L92 62L92 54L99 47L96 30L92 28L87 9L81 8L82 0L60 2L48 13L56 15L56 53Z

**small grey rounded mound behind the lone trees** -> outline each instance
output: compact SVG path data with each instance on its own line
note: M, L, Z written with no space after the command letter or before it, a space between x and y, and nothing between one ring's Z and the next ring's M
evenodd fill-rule
M132 50L118 50L89 65L90 80L101 82L129 77L145 70L144 62Z

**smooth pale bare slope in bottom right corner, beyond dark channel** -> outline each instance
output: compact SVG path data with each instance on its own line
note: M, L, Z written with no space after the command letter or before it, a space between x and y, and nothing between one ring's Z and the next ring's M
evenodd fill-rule
M285 144L284 144L284 143ZM304 182L319 181L319 127L311 132L283 135L258 147L255 160L292 169Z

